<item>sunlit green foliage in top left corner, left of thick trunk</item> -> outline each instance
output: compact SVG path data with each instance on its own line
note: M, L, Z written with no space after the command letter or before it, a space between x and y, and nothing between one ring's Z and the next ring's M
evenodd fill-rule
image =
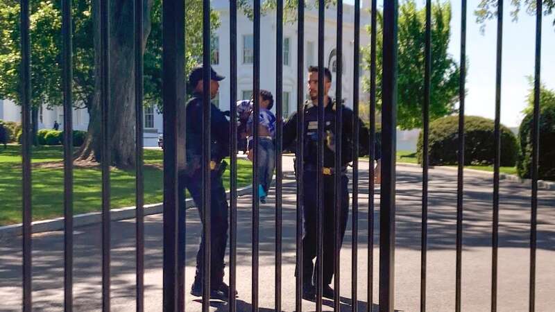
M83 103L94 91L91 0L73 4L74 100ZM62 105L61 2L31 0L31 104ZM19 1L0 0L0 98L20 103Z

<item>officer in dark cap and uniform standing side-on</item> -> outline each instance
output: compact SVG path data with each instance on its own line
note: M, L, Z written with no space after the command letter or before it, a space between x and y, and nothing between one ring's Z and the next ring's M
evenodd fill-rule
M210 98L218 93L219 81L224 77L219 76L212 67L210 68ZM185 172L180 174L180 182L191 193L198 207L202 219L202 155L203 155L203 67L196 67L189 75L189 86L193 89L194 97L187 103L187 164ZM210 297L225 300L229 296L229 287L223 282L223 258L225 246L228 243L228 202L225 198L222 175L225 171L223 157L229 155L230 123L225 119L225 114L216 105L210 103L210 179L211 201L210 221ZM185 207L182 207L185 209ZM191 287L191 294L202 295L203 280L203 254L205 248L204 237L200 239L200 248L196 255L196 275Z

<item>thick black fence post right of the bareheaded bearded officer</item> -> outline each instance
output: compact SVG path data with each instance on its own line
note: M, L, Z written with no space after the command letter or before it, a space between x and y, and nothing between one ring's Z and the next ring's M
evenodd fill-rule
M398 1L384 1L382 193L379 211L379 311L395 302L395 141L397 125Z

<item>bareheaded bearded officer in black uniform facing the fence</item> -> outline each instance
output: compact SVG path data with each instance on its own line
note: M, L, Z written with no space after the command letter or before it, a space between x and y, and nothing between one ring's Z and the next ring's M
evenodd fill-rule
M335 175L341 175L341 242L345 235L347 226L347 218L349 212L349 179L346 174L346 168L349 162L354 159L352 155L353 148L353 112L342 104L334 103L327 96L332 83L332 74L330 70L325 68L324 81L324 168L323 184L324 184L324 221L323 221L323 296L327 298L334 297L334 290L330 287L332 277L334 275L334 237L335 237L335 198L334 185ZM320 265L319 259L316 259L316 267L312 262L317 255L317 220L318 220L318 189L316 187L317 179L317 157L318 157L318 67L309 67L308 89L311 100L305 103L305 124L304 124L304 197L303 200L303 236L302 236L302 296L307 300L314 300L316 295L315 281L317 267ZM335 172L335 114L336 110L343 110L343 129L341 139L341 172ZM368 129L364 127L364 123L359 120L359 144L361 155L368 155ZM291 114L283 128L283 147L289 150L296 148L297 136L297 114ZM376 159L379 159L379 144L375 143L377 153ZM375 180L380 180L380 162L378 160L376 168Z

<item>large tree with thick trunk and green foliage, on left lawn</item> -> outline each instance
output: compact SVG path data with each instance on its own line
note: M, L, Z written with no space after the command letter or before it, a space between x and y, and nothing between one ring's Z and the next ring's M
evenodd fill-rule
M110 1L111 66L111 164L135 164L135 104L133 58L133 0ZM202 1L186 6L186 70L201 60ZM99 90L99 1L74 1L74 105L90 116L79 159L101 161ZM145 104L162 109L162 1L146 0L144 6ZM212 12L212 30L219 26ZM0 0L0 98L19 103L19 1ZM62 105L60 1L31 0L31 72L33 105ZM184 82L185 83L185 82Z

